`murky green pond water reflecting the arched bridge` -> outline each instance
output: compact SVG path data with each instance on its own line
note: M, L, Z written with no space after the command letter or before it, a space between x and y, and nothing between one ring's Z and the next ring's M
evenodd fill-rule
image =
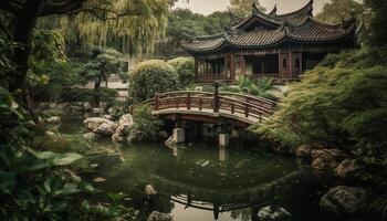
M79 133L76 120L65 120L60 130ZM296 221L318 220L321 183L293 158L240 141L227 148L215 140L174 148L161 141L119 147L107 139L94 143L119 154L95 158L95 172L85 179L103 178L94 186L128 196L143 211L153 207L176 221L238 221L258 220L258 211L271 204L284 208ZM145 204L147 185L158 193L151 206Z

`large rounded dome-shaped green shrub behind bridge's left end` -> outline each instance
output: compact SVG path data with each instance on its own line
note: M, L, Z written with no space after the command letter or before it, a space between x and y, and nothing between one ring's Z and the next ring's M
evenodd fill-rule
M146 61L132 71L129 98L134 104L155 96L155 93L176 91L178 75L176 70L160 60Z

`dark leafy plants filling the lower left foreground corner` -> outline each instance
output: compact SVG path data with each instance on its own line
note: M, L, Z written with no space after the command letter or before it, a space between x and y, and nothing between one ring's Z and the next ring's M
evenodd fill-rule
M104 204L87 199L97 190L69 166L82 159L29 148L33 124L0 87L0 217L4 220L113 220L135 217L108 194ZM101 194L101 193L100 193ZM111 202L111 203L109 203ZM107 203L107 206L105 206Z

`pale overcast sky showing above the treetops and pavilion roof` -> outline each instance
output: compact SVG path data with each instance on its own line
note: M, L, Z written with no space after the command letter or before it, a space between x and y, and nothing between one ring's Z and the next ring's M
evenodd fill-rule
M305 6L310 0L259 0L262 7L271 11L276 3L278 13L286 13L300 9ZM328 0L314 0L314 13L318 13L323 4ZM176 3L178 8L189 8L196 13L210 14L215 11L224 11L230 4L230 0L179 0Z

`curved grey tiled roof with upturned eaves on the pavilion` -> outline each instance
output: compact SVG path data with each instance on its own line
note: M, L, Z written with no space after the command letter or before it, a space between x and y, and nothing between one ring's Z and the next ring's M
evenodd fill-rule
M268 14L257 11L228 33L195 38L182 46L191 53L210 53L227 49L270 48L284 42L328 44L354 36L354 20L326 24L314 19L312 10L313 0L286 14L275 14L276 7Z

